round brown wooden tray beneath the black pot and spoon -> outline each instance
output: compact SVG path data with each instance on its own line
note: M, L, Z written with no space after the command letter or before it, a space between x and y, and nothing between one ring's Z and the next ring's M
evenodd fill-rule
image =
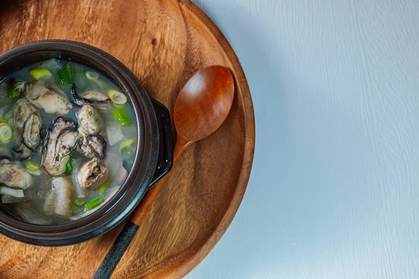
M34 40L78 40L122 61L172 113L197 70L230 68L235 102L226 123L193 144L140 227L112 278L181 278L219 241L247 187L255 142L251 95L235 53L189 0L26 0L1 4L0 52ZM0 278L91 278L119 234L41 248L0 236Z

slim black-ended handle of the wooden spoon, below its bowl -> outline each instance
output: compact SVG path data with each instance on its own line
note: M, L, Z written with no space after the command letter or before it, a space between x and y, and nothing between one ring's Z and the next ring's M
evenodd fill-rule
M177 160L179 160L184 149L191 143L192 142L190 140L186 140L184 137L179 135L177 136L175 150L173 151L173 166L177 164ZM113 271L117 268L119 261L122 259L122 256L124 256L126 249L128 249L135 233L138 231L138 228L142 224L145 216L147 216L147 213L154 204L154 201L159 195L161 188L163 188L167 179L168 174L147 192L145 197L140 202L140 205L137 209L135 209L131 219L128 220L122 231L119 233L117 239L115 239L115 242L112 244L112 247L94 273L92 279L105 279L112 276Z

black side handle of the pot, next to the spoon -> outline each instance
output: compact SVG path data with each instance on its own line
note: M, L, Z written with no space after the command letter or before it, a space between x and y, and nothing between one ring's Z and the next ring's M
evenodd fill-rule
M159 158L149 188L152 188L154 184L162 179L173 165L173 133L169 110L154 99L152 99L152 104L159 126Z

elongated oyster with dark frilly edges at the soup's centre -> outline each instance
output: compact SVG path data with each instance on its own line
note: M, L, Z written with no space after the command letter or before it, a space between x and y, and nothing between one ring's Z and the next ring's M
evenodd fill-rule
M75 123L71 119L59 117L47 130L43 146L43 163L47 172L59 176L66 172L71 150L78 142Z

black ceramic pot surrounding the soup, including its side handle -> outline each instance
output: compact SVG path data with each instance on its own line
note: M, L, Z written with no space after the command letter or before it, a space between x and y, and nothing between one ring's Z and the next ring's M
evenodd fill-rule
M87 217L62 225L31 225L1 206L0 233L38 246L72 245L108 232L129 216L147 190L170 170L173 157L171 121L166 107L149 98L126 66L96 47L68 40L43 40L15 47L0 54L0 80L19 68L52 58L91 66L123 89L137 119L138 144L125 183L105 205Z

